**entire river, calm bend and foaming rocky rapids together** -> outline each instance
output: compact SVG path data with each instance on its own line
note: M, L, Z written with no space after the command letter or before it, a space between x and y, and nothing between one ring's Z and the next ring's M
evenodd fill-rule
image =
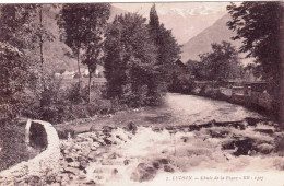
M90 125L98 130L93 128L74 139L61 140L64 159L60 162L63 170L60 183L175 185L167 182L168 177L202 171L204 173L197 177L208 175L206 171L224 175L238 171L283 170L284 158L275 153L275 141L284 138L284 133L279 132L272 121L198 126L213 119L239 121L246 117L263 116L223 101L168 93L162 106L97 118ZM137 129L125 128L130 121L138 126ZM85 124L74 126L74 129L82 126L90 131L91 126ZM188 181L182 184L189 185Z

